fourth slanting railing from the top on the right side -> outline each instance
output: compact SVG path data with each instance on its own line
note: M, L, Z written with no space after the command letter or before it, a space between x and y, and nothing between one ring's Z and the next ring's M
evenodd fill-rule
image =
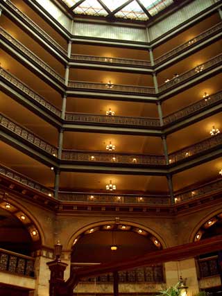
M216 134L210 138L200 141L192 146L185 147L175 153L169 154L169 162L173 164L174 162L179 162L188 157L198 155L211 148L216 148L216 146L221 146L222 144L222 134Z

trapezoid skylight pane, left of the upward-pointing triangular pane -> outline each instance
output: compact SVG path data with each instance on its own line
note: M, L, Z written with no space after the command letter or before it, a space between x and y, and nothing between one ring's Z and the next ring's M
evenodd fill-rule
M74 9L74 13L78 15L94 15L98 17L106 17L108 15L108 12L97 0L85 0Z

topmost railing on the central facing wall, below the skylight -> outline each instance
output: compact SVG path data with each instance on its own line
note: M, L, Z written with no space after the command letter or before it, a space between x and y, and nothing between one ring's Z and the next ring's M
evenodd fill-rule
M148 58L148 55L147 55ZM96 55L76 55L71 54L72 62L102 62L104 64L123 64L130 67L151 67L151 62L146 60L132 60L125 58L108 58Z

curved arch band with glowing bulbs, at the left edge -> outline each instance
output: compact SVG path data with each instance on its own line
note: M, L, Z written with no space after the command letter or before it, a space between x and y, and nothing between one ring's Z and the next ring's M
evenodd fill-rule
M33 243L44 245L45 237L43 229L37 219L28 209L26 209L26 207L8 195L5 195L0 200L0 207L22 222L22 225L26 227L28 234L31 236Z

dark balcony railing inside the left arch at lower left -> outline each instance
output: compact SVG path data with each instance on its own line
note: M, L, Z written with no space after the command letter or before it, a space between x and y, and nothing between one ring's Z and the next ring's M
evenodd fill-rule
M0 271L35 277L34 263L35 259L33 257L0 249Z

